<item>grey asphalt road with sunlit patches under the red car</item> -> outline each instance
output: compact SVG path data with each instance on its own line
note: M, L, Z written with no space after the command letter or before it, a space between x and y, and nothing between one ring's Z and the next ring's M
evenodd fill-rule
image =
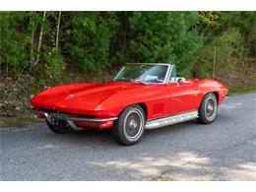
M0 129L0 180L256 180L256 93L231 96L210 125L147 130L119 146L109 132Z

